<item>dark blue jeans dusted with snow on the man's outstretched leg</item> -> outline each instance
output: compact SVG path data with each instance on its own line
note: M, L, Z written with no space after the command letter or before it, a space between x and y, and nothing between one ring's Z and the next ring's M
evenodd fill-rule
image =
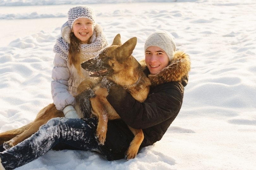
M5 169L15 169L44 155L58 143L100 152L91 126L97 125L88 125L82 119L53 118L30 138L1 152L2 164Z

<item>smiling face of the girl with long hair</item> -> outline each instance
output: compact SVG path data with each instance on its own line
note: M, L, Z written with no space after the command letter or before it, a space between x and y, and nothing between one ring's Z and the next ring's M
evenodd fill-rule
M82 44L88 44L93 35L93 22L87 18L78 18L72 25L71 31Z

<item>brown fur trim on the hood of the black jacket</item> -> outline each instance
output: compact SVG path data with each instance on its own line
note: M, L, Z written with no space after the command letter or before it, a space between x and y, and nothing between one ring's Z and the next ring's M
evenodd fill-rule
M144 70L148 70L145 59L139 61ZM181 81L184 76L188 76L190 71L189 55L183 51L174 53L171 63L162 69L158 74L149 74L149 80L152 86L156 86L165 82Z

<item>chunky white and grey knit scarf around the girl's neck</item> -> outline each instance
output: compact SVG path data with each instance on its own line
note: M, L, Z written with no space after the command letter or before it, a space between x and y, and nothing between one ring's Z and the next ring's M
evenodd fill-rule
M68 54L69 54L69 46L70 46L70 28L66 26L64 28L64 35L62 37L58 37L56 40L56 44L54 45L53 52L58 54L61 58L68 61ZM94 27L94 40L90 44L81 44L81 54L82 60L87 60L90 58L95 57L102 48L108 46L108 42L106 36L102 32L102 28L100 25L96 24Z

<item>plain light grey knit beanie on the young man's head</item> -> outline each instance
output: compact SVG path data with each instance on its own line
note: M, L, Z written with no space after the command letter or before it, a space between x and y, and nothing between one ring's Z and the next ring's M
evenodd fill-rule
M145 42L144 51L150 46L156 46L164 50L168 55L169 61L173 60L173 54L176 51L174 37L167 31L155 31L149 35Z

